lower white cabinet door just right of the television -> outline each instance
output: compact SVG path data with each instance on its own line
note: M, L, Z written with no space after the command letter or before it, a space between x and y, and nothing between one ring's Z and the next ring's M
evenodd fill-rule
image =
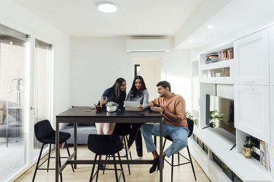
M270 142L269 86L234 85L235 127Z

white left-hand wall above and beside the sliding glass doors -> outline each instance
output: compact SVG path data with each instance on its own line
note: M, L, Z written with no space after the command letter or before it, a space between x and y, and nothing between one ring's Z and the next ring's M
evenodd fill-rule
M53 44L53 120L69 108L70 95L70 37L38 18L14 1L0 1L0 24ZM33 46L32 42L32 46ZM31 50L32 51L32 50ZM31 57L31 59L33 59Z

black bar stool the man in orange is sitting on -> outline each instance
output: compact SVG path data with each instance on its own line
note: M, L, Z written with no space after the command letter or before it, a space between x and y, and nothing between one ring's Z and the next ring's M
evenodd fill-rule
M194 122L192 121L192 119L186 118L186 120L188 121L188 130L189 130L188 138L189 138L192 135L192 132L193 132L193 124L194 124ZM165 138L164 139L164 145L166 144L166 139L170 140L170 141L173 141L170 136L164 136L164 138ZM193 164L192 164L192 160L191 160L190 152L189 152L189 149L188 149L188 145L186 145L186 149L188 150L188 158L186 158L184 155L182 155L181 153L179 153L179 151L177 152L177 155L178 155L178 164L176 164L176 165L173 164L174 153L171 156L171 163L169 163L167 160L165 160L169 165L171 165L171 182L173 182L173 167L174 166L181 166L181 165L184 165L184 164L191 164L192 172L193 172L193 175L194 175L195 181L196 181L195 170L194 170L194 167L193 167ZM163 146L163 150L164 150L164 146ZM180 156L184 157L188 162L184 162L184 163L180 164L179 163L179 157Z

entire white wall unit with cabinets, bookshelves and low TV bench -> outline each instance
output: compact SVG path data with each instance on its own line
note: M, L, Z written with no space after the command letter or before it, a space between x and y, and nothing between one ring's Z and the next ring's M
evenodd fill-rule
M212 153L242 181L274 181L273 47L274 26L264 27L199 55L200 115L199 127L195 128L193 134L208 146L208 155L194 140L189 140L189 146L195 160L212 181L231 181L214 162ZM234 59L206 64L206 55L228 48L234 48ZM216 74L224 68L229 68L229 75ZM221 90L221 86L227 89ZM232 95L229 97L234 100L236 147L232 150L234 144L227 138L210 128L201 129L207 126L206 94L221 97L224 92ZM247 136L268 144L271 172L255 158L247 159L242 155L242 143Z

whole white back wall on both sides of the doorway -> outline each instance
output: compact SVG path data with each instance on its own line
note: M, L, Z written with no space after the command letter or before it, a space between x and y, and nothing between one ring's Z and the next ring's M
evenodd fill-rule
M71 104L97 104L116 78L127 80L129 91L134 78L134 58L161 58L162 80L171 83L174 93L191 109L191 61L188 50L171 52L125 52L125 37L73 37L71 39ZM152 98L150 98L152 100Z

